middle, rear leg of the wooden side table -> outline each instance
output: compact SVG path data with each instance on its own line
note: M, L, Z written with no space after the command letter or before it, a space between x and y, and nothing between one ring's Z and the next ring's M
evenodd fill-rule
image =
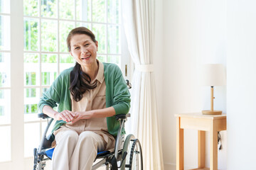
M198 130L198 168L206 166L206 131Z

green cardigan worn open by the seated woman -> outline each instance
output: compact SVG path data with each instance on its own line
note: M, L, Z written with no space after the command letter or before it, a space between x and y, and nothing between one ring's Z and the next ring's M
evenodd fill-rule
M106 107L113 106L116 115L127 114L130 108L130 94L127 84L122 77L122 72L116 64L103 63L106 83ZM58 112L72 111L70 99L70 72L73 67L65 69L55 79L50 89L46 91L38 103L38 109L43 113L43 106L55 108L58 105ZM53 131L58 130L66 123L63 120L56 121ZM117 136L119 122L112 117L107 117L107 129L111 135Z

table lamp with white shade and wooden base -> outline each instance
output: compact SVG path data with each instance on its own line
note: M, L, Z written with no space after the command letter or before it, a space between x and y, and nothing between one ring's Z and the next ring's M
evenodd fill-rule
M203 115L221 115L222 111L213 110L213 86L225 85L225 68L223 64L204 64L202 70L203 86L210 86L210 111L202 111Z

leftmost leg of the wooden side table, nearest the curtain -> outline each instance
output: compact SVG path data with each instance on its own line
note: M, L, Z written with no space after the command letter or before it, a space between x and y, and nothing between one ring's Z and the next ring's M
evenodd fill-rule
M176 170L183 170L184 169L184 132L181 129L181 122L180 118L177 117L176 119Z

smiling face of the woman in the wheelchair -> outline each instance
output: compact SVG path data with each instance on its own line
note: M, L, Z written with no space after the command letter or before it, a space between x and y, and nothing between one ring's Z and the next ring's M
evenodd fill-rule
M76 34L70 39L70 55L81 67L97 64L97 41L93 42L89 35Z

